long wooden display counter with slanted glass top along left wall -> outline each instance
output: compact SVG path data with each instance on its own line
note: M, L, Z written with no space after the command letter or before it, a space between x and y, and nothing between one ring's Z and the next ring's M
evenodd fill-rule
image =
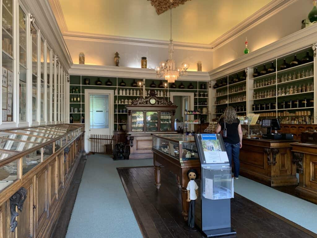
M10 129L0 140L0 237L50 237L84 152L84 127Z

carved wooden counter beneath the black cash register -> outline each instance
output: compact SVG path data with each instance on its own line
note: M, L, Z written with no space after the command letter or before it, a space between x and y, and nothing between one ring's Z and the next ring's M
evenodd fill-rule
M240 175L271 187L298 184L290 142L243 138Z

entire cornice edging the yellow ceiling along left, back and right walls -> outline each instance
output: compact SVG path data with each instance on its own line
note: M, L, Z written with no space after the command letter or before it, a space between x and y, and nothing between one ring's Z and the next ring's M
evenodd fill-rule
M104 34L68 31L59 1L58 0L49 0L49 1L51 3L55 17L57 19L57 22L62 30L62 33L65 39L168 48L169 41L167 40L153 40L153 39L145 39L145 38L133 38L133 37L111 36L111 35L104 35ZM269 17L272 17L273 15L280 12L281 10L283 10L284 8L288 7L290 4L296 1L298 0L273 0L270 3L268 3L266 6L262 7L260 10L256 11L250 17L248 17L247 19L243 20L241 23L236 25L234 28L230 29L229 31L224 33L222 36L218 37L216 40L212 41L210 44L174 42L174 47L175 49L183 49L183 50L213 51L215 48L220 47L223 44L229 43L230 41L240 36L247 30L262 23Z

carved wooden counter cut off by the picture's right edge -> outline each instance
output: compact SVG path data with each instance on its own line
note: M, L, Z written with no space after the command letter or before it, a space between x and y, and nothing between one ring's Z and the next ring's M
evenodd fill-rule
M299 185L296 196L317 204L317 145L291 143L293 162L297 164Z

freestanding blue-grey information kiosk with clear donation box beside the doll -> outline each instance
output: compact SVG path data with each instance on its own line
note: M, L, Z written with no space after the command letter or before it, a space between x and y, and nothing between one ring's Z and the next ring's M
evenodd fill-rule
M219 134L195 135L201 162L201 224L207 237L232 235L230 198L233 197L231 167Z

